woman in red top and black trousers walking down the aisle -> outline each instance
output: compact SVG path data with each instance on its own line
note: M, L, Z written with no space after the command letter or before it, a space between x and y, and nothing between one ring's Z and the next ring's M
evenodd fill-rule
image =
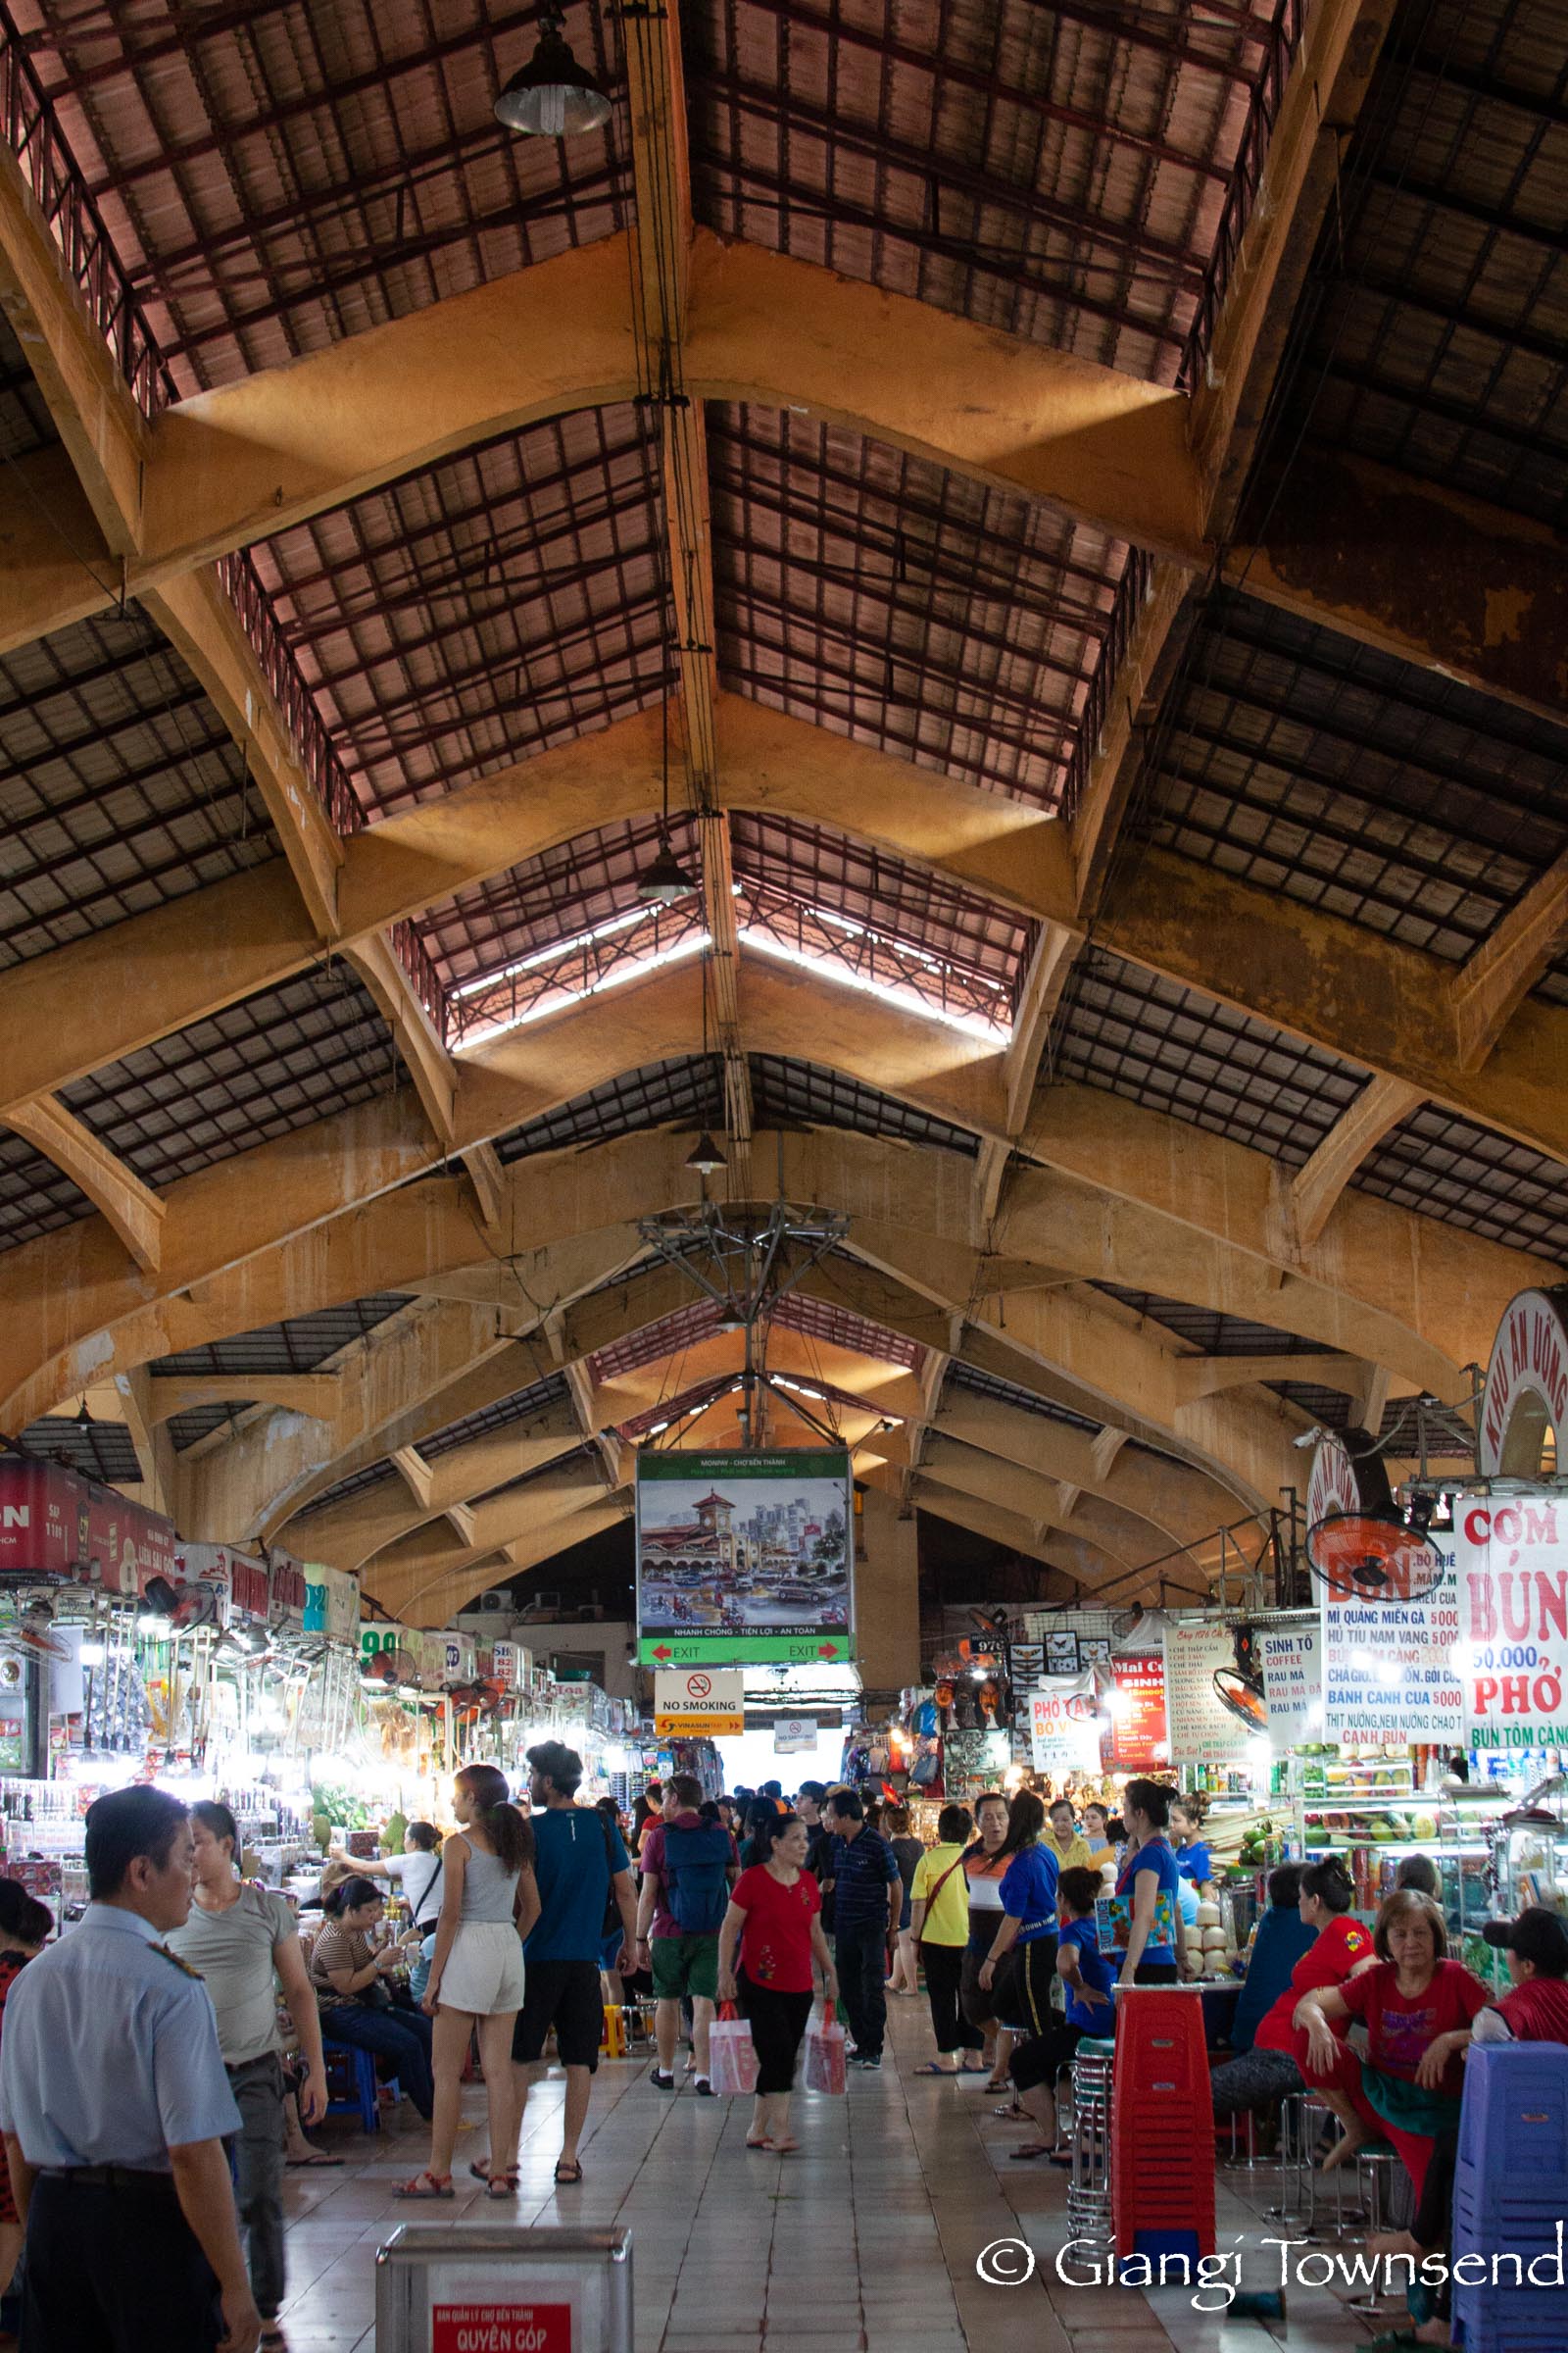
M745 2146L783 2155L799 2146L790 2139L790 2087L811 2017L811 1962L823 1974L827 2002L837 2002L839 1979L823 1937L823 1897L806 1871L806 1824L799 1814L759 1817L752 1838L764 1859L741 1873L729 1897L719 1927L719 2000L741 1995L757 2049L757 2106Z

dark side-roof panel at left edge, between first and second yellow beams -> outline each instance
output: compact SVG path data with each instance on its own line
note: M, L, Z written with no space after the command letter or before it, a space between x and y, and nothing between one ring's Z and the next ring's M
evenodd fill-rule
M0 661L0 965L280 856L223 720L139 605Z

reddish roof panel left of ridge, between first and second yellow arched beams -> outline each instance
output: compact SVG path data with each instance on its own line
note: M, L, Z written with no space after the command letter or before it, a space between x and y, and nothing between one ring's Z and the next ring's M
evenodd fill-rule
M658 699L656 466L632 407L576 409L256 548L369 814Z

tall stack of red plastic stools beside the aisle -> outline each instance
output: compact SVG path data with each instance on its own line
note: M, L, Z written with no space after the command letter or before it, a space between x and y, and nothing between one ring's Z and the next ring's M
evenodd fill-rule
M1213 2099L1197 1988L1117 1995L1110 2174L1119 2261L1213 2254Z

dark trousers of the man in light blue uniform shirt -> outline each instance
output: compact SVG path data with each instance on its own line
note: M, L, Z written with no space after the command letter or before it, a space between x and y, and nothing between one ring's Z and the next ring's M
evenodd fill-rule
M82 2188L40 2174L21 2289L26 2353L212 2353L219 2282L174 2181Z

